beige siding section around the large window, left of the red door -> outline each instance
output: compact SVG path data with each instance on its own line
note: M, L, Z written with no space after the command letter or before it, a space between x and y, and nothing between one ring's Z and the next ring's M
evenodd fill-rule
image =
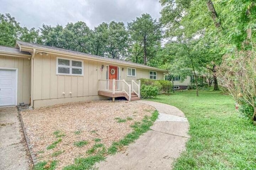
M103 63L84 60L83 76L58 75L56 57L34 57L34 100L98 95L98 80L106 78L106 72L100 70Z

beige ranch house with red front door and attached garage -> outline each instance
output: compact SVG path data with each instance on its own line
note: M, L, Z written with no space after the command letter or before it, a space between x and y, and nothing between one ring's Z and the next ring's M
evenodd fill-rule
M165 70L22 41L0 46L0 106L42 107L124 96L140 99L139 78Z

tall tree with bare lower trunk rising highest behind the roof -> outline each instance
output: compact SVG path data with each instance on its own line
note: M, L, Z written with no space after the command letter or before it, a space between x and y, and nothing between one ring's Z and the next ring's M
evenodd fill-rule
M128 23L133 46L132 51L135 52L135 62L139 62L141 55L141 46L143 47L143 64L147 64L150 59L156 56L158 47L161 45L161 25L154 20L150 14L142 14L136 20Z

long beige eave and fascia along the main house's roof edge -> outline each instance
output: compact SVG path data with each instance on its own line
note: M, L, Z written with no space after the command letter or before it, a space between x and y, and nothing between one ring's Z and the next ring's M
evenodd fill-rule
M16 43L16 45L18 45L18 47L20 48L20 51L29 51L30 53L32 53L33 49L35 47L29 47L29 46L24 46L21 45L20 43ZM36 47L36 51L37 52L48 52L51 54L55 54L55 55L62 55L62 56L66 56L66 57L75 57L75 58L79 58L79 59L88 59L91 61L104 61L106 63L115 63L115 64L119 64L119 65L123 65L123 66L133 66L136 68L144 68L144 69L148 69L148 70L155 70L155 71L160 71L160 72L166 72L166 70L162 70L160 68L154 68L154 67L147 67L147 66L138 66L136 64L132 64L132 63L121 63L121 62L116 62L116 61L109 61L108 59L105 58L98 58L98 57L93 57L93 56L88 56L86 54L84 55L80 55L80 54L75 54L75 53L69 53L69 52L62 52L62 51L58 51L58 50L51 50L51 49L44 49L44 48L38 48Z

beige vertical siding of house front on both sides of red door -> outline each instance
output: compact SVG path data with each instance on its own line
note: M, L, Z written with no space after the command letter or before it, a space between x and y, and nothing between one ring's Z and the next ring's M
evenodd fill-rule
M107 65L119 66L120 79L136 80L149 78L149 70L136 68L136 77L127 76L127 67L102 61L84 62L84 75L58 75L56 74L56 58L61 55L38 55L34 57L34 107L42 107L66 102L79 102L85 100L102 100L104 96L98 96L98 80L106 79ZM72 59L70 57L63 57ZM101 69L104 66L103 70ZM122 68L124 70L122 71ZM129 67L130 68L130 67ZM163 79L163 72L157 73L157 79Z

